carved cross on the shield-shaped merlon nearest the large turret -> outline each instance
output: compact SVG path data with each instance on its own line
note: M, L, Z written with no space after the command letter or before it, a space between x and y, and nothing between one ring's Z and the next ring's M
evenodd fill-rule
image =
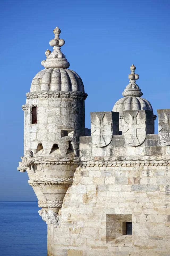
M95 143L95 145L98 144L102 144L103 146L106 145L106 141L104 139L104 131L108 131L110 130L109 135L112 135L112 122L104 122L104 117L98 117L99 118L99 122L97 124L93 123L92 124L95 126L95 130L91 133L95 133L96 131L99 131L99 139L97 140L97 142Z

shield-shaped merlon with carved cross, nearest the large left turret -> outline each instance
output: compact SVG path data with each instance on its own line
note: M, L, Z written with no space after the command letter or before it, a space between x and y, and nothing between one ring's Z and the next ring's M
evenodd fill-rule
M105 147L119 134L118 112L91 112L91 138L96 147Z

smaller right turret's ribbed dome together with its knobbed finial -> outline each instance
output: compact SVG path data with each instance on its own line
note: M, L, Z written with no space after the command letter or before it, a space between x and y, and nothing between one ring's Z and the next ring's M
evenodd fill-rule
M131 74L129 75L130 83L126 86L122 95L124 98L119 99L112 111L119 112L120 117L123 115L124 110L151 110L152 106L146 99L141 98L143 93L139 86L135 83L139 79L139 75L135 74L136 67L130 67Z

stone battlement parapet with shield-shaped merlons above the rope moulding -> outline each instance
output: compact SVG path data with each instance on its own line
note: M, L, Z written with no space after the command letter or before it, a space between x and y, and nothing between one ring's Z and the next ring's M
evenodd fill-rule
M123 111L123 135L119 135L119 113L92 112L91 136L80 137L80 156L167 155L170 153L170 109L158 110L158 134L154 134L153 112Z

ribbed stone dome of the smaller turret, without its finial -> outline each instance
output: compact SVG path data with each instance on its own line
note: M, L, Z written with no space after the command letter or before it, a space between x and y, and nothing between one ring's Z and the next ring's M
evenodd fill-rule
M119 115L123 115L124 110L151 110L152 106L150 102L148 102L146 99L139 98L139 97L133 97L133 96L126 96L124 98L119 99L112 111L119 112Z

